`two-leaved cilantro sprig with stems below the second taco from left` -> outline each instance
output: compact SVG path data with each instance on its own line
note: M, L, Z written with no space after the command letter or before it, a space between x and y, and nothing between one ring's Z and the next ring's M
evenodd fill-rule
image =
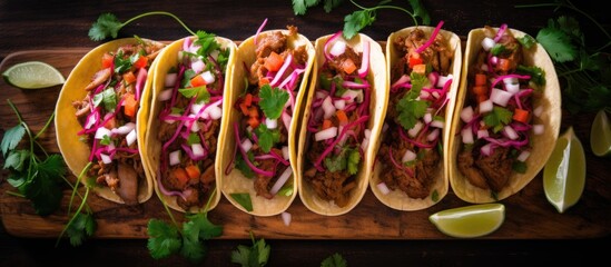
M191 263L200 263L206 258L208 253L206 240L223 235L223 227L208 220L208 208L214 199L214 194L217 194L216 189L208 199L204 211L187 212L186 221L180 227L166 201L157 192L157 197L161 200L173 224L155 218L148 221L147 248L152 258L166 258L174 254L179 254Z

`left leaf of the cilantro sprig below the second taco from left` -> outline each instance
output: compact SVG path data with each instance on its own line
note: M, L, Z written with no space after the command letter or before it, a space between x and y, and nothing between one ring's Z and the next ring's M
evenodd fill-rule
M152 258L165 258L180 249L183 243L176 227L162 220L150 219L147 230L149 236L147 247Z

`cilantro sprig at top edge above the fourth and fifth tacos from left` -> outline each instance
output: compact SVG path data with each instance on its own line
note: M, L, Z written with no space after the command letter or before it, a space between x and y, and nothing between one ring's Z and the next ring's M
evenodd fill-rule
M346 39L353 38L365 27L373 24L373 22L377 19L377 11L381 9L395 9L403 11L412 17L414 26L418 24L417 18L422 20L423 24L431 23L431 17L420 0L408 0L413 11L398 6L387 4L392 2L392 0L383 0L372 8L363 7L354 0L349 1L359 10L344 17L343 33ZM329 13L334 8L339 7L343 0L293 0L293 11L295 14L305 14L308 8L316 7L321 2L324 2L325 12Z

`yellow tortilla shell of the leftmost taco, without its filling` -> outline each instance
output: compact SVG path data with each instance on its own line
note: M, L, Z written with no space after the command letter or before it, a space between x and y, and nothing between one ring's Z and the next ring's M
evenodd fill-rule
M142 41L150 42L155 46L165 46L160 42L141 39ZM68 168L72 171L75 176L79 176L83 168L89 162L89 154L91 147L88 144L79 140L80 137L77 135L82 130L82 126L79 123L75 108L72 107L72 101L82 100L87 96L85 87L91 81L93 75L101 69L101 58L106 52L115 52L117 49L125 44L137 43L136 38L124 38L117 39L114 41L106 42L100 44L89 51L80 61L77 63L75 69L68 76L66 83L63 85L61 92L59 93L59 99L56 106L56 119L55 126L57 131L57 142L58 147L63 155L63 159ZM155 69L158 60L154 60L149 66L147 80L142 87L142 91L146 92L150 89L150 83L152 80L152 73L150 70ZM140 99L140 107L137 112L136 118L136 131L137 140L144 140L144 135L146 132L146 113L150 108L147 101ZM146 146L141 142L138 142L138 152L139 155L146 154ZM144 162L142 162L144 164ZM146 174L146 167L145 167ZM86 176L82 176L80 182L86 185ZM115 194L109 187L93 186L92 190L100 197L108 199L114 202L125 204L125 201ZM138 182L138 202L145 202L152 196L152 180L151 177L146 174L145 180L139 180Z

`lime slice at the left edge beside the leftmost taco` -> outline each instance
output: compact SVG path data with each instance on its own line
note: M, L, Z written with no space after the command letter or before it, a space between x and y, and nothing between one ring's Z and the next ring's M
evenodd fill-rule
M7 83L21 89L47 88L66 82L59 70L41 61L13 65L2 73L2 77Z

